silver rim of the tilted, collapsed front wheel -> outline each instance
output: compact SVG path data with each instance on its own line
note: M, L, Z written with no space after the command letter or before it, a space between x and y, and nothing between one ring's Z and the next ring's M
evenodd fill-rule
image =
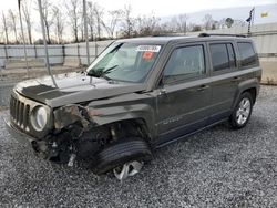
M121 167L116 167L113 169L114 176L119 180L126 179L129 176L134 176L135 174L140 173L143 166L143 162L131 162L126 163Z

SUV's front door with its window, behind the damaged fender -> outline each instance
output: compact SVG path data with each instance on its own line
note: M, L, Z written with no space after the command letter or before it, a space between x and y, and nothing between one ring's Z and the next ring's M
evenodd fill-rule
M157 96L157 144L204 127L211 100L204 44L173 50Z

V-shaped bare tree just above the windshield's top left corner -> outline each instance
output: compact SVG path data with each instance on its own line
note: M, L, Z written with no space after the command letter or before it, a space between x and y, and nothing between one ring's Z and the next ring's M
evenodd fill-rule
M109 11L109 23L104 23L104 21L102 21L102 24L104 27L104 29L106 30L107 34L110 38L114 38L114 31L116 25L119 24L122 15L123 15L123 10L119 9L119 10L113 10L113 11Z

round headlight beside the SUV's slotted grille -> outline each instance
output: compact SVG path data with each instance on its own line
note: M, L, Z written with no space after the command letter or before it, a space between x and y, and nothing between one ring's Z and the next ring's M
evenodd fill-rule
M48 112L43 106L37 106L31 113L31 123L32 127L40 132L42 131L48 123Z

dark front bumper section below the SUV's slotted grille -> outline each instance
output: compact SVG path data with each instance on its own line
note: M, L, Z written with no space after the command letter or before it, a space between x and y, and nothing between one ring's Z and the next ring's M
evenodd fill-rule
M13 127L10 121L7 121L7 119L3 119L3 121L6 123L6 128L10 133L10 135L13 136L22 145L31 146L31 142L35 141L35 138L20 132L16 127Z

